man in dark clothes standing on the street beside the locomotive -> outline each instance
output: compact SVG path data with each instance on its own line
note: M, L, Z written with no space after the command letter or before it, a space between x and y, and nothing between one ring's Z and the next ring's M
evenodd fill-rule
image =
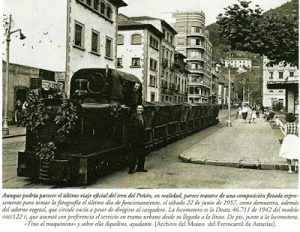
M144 107L138 105L129 119L128 173L147 172L145 166L145 119Z

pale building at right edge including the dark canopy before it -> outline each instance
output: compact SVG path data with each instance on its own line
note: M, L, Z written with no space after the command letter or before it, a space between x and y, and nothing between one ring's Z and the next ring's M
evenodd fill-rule
M299 74L296 66L269 65L267 57L263 59L263 106L271 107L273 102L280 102L289 112L298 106ZM294 91L287 91L292 86Z

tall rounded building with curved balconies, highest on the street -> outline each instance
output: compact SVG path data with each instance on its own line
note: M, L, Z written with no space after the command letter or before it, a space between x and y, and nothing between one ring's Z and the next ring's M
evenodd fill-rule
M189 64L189 102L209 102L211 97L212 45L205 30L202 11L176 12L176 51L183 53Z

